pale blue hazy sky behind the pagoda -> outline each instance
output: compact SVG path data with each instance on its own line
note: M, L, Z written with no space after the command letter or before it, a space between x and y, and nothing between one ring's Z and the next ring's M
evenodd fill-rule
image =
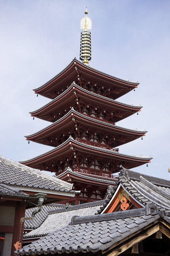
M28 142L26 133L49 123L32 119L31 110L49 99L32 91L79 59L80 21L85 7L92 20L92 59L102 72L140 82L119 98L143 106L139 115L117 123L146 129L138 139L119 147L123 154L148 156L144 174L169 179L170 167L170 1L168 0L1 0L0 1L0 154L14 161L50 147Z

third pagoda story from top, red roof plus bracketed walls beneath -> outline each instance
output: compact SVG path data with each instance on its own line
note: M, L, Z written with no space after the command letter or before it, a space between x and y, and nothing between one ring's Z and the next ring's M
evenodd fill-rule
M59 120L46 128L26 135L26 140L57 147L70 136L91 145L110 149L145 136L145 130L132 130L116 126L113 122L79 113L71 108ZM105 144L105 145L104 145ZM108 146L106 146L108 145Z

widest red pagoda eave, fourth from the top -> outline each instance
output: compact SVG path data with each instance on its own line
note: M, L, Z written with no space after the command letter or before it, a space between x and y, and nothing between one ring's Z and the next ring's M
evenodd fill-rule
M78 161L79 158L93 158L94 161L98 159L98 161L106 161L106 163L117 163L116 165L118 166L122 164L127 169L149 163L151 160L151 158L123 155L112 150L97 148L69 138L57 148L28 161L21 161L20 163L35 169L50 170L53 169L55 163L60 163L60 161L66 163L68 158L75 159L75 161Z

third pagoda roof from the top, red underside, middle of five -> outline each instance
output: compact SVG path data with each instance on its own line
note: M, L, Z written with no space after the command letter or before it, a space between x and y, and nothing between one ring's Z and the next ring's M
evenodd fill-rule
M73 118L74 117L74 118ZM94 118L89 115L81 114L74 110L74 108L70 109L66 115L61 117L59 120L55 121L53 124L43 128L38 132L34 132L31 135L26 135L27 140L34 140L35 142L42 143L45 141L45 138L52 137L57 135L58 133L63 133L64 130L68 129L70 126L75 126L75 123L86 124L89 128L96 128L96 130L101 130L106 133L114 132L114 134L125 135L127 136L127 140L124 143L133 141L138 137L144 136L147 131L145 130L134 130L127 129L121 126L115 126L115 124L105 121L101 118ZM47 141L47 140L46 140ZM50 144L50 141L48 142ZM119 145L124 144L123 142L119 142Z

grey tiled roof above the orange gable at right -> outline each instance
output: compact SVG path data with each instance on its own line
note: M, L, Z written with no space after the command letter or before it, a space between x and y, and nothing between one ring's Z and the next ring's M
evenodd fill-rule
M159 210L164 210L167 214L170 212L170 188L166 187L166 184L170 184L168 180L138 174L123 167L121 168L122 170L118 177L119 182L117 186L110 186L108 188L107 198L109 198L109 200L106 201L105 205L101 207L98 213L104 210L108 202L114 196L120 183L122 187L143 206L153 203ZM156 185L149 180L153 180Z

